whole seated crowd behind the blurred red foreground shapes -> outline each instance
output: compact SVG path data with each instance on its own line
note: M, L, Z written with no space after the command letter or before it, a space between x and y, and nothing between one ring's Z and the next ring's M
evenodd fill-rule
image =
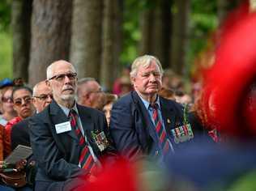
M206 129L198 118L193 103L197 98L184 92L177 75L172 79L172 72L164 73L156 57L137 57L124 74L111 93L96 79L78 79L75 67L64 60L51 63L46 79L32 89L2 80L0 175L10 165L4 159L16 146L31 146L32 155L12 164L13 173L25 172L26 184L2 181L0 189L86 190L122 159L147 161L173 172L179 167L178 174L184 172L182 166L198 160L193 155L193 163L183 165L188 156L184 153L196 153L194 146L214 148L219 142L220 134Z

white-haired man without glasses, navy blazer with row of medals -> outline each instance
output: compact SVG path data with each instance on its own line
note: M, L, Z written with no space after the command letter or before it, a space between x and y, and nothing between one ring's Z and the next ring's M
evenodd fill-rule
M134 60L130 79L134 91L113 105L110 134L127 159L147 155L162 161L164 155L194 140L194 126L181 104L158 96L163 69L160 61L145 55Z

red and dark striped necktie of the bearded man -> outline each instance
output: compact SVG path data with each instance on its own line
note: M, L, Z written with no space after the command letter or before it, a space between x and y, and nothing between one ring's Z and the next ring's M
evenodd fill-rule
M79 156L79 163L81 165L81 168L84 168L89 172L93 172L94 168L96 168L96 163L92 157L91 151L89 150L89 146L87 142L85 142L83 134L79 129L79 124L78 124L79 118L74 109L70 110L69 117L71 119L70 125L72 128L75 129L75 134L79 138L79 146L82 147L82 150L80 151L80 156Z

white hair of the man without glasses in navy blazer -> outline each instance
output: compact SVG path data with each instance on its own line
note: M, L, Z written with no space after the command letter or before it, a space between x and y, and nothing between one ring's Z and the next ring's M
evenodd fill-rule
M151 64L151 61L156 62L157 66L159 66L160 74L163 75L164 70L158 58L146 54L141 57L137 57L134 60L134 62L131 65L130 77L135 77L137 75L139 66L147 67Z

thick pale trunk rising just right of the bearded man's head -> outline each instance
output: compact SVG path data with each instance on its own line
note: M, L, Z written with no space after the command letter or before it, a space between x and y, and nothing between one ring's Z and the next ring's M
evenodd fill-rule
M101 0L74 0L70 61L79 71L79 78L100 77Z

